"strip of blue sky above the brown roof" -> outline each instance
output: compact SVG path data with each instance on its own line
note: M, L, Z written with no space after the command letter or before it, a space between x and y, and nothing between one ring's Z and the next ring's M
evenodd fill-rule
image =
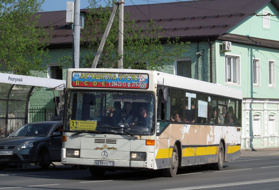
M61 11L66 10L66 2L73 0L45 0L45 3L42 4L42 9L44 11ZM153 3L169 3L177 2L180 0L124 0L124 5L140 5L140 4L153 4ZM108 0L96 0L98 5L103 7L107 5ZM80 9L87 8L90 4L88 0L80 0Z

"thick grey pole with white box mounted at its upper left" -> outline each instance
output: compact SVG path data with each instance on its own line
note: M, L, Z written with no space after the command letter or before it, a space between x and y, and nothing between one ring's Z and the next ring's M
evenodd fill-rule
M74 1L73 66L80 68L80 0Z

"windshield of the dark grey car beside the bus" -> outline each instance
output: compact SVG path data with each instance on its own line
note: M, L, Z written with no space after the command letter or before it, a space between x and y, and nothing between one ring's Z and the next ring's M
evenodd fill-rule
M13 132L10 137L27 137L27 136L39 136L39 137L45 137L51 126L53 124L42 124L42 123L30 123L27 125L23 125L15 132Z

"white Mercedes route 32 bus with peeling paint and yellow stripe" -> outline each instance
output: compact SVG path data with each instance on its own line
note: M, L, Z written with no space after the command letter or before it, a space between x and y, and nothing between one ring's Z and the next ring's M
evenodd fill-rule
M242 92L158 71L68 69L61 162L93 176L207 165L240 156Z

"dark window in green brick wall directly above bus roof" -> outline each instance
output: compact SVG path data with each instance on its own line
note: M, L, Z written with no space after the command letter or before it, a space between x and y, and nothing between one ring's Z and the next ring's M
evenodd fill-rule
M175 75L192 78L191 58L175 60L174 70Z

